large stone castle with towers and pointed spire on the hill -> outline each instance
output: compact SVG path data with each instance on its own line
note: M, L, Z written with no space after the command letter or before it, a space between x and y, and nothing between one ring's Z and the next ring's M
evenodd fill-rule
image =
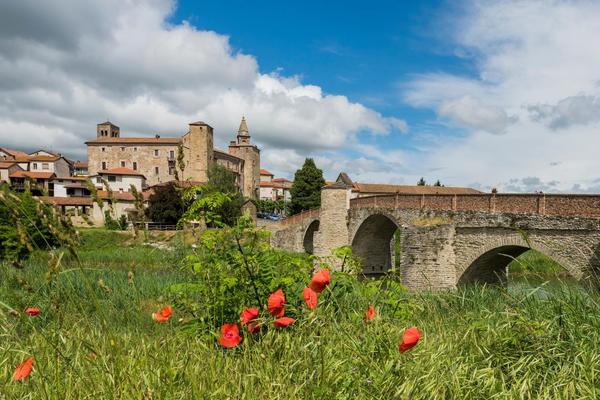
M214 148L213 128L205 122L189 124L182 137L121 137L120 128L111 122L97 125L96 139L86 142L88 174L114 168L128 168L146 177L149 186L170 182L177 177L194 183L208 182L214 163L233 171L236 183L246 197L258 195L260 150L250 143L245 118L242 118L237 141L229 152ZM180 155L184 168L180 169Z

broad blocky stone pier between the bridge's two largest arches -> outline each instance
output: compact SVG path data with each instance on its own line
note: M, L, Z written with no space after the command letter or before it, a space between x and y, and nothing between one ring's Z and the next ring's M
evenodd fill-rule
M402 226L402 284L413 290L455 288L454 225L426 222Z

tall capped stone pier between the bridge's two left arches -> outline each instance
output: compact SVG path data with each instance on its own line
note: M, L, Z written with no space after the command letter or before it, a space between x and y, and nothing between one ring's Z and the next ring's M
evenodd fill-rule
M344 182L325 186L321 190L319 230L314 236L314 254L329 257L338 247L349 245L348 210L350 209L351 187ZM333 268L339 263L328 259Z

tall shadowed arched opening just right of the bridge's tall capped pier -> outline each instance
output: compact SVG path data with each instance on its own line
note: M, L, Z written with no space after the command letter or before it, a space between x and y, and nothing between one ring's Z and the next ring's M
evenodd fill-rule
M360 258L365 276L382 275L392 266L399 268L398 225L385 215L371 215L356 231L352 240L352 252Z

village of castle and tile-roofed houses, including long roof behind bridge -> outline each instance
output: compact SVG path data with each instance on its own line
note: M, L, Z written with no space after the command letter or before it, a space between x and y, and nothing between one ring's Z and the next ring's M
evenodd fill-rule
M291 199L293 182L276 178L261 168L261 150L252 143L244 117L227 151L215 148L213 128L203 121L190 123L181 137L122 136L117 125L106 121L97 124L96 137L85 145L87 160L84 161L74 161L49 150L27 153L0 147L0 184L8 184L16 191L30 190L63 213L69 213L75 223L91 221L95 225L102 225L105 216L94 202L90 184L98 198L115 203L114 217L125 215L134 220L137 211L132 188L147 202L160 185L174 181L179 185L207 183L214 163L233 172L235 183L247 200ZM352 197L479 193L469 188L356 183L345 173L339 175L336 182L339 181L351 185Z

